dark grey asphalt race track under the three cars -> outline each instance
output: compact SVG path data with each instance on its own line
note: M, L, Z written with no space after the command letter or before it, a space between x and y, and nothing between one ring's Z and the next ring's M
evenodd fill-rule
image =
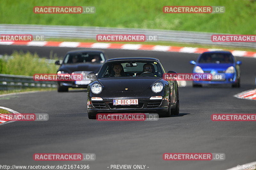
M1 54L29 50L48 56L50 50L63 56L73 48L0 46ZM190 60L197 54L104 50L109 58L156 57L165 71L191 73ZM47 113L44 122L17 121L0 126L0 160L5 165L86 164L92 170L111 164L146 165L149 170L228 169L256 160L255 122L212 122L213 113L255 114L254 100L233 97L255 88L255 58L241 60L241 88L204 86L191 82L180 87L180 115L148 122L105 122L87 118L85 90L68 93L36 92L0 97L0 106L19 113ZM163 153L225 153L222 161L164 161ZM34 153L95 153L95 161L34 161ZM149 168L147 168L149 167Z

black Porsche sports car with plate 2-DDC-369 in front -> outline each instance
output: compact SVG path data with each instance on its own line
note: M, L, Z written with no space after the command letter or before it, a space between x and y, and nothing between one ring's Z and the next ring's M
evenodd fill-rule
M156 58L107 60L87 88L88 118L95 119L97 113L178 115L178 84L175 79L164 80L164 73L162 64Z

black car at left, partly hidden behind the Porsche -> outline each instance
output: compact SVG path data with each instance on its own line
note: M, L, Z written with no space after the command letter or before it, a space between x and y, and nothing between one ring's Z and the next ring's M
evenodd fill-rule
M87 88L88 84L96 78L102 66L107 59L107 55L99 50L72 50L65 55L63 62L57 60L55 64L60 65L57 74L82 74L82 81L58 81L58 92L68 92L68 88Z

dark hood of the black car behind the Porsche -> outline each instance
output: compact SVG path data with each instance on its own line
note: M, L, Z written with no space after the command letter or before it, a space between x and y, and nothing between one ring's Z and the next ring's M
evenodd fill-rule
M72 73L74 71L93 71L99 72L102 64L91 64L91 63L80 63L80 64L63 64L60 66L58 71L65 71Z

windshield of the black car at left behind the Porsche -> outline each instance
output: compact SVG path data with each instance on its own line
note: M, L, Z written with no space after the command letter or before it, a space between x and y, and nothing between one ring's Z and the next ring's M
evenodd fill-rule
M105 57L100 52L84 52L84 53L71 53L68 54L64 59L64 64L74 63L104 63Z

